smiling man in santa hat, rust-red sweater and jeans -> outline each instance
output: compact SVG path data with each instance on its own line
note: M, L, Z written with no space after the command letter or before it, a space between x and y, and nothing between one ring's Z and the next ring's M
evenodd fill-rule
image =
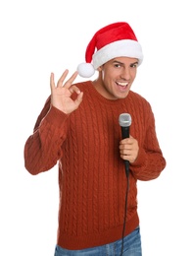
M67 81L68 70L56 85L51 74L51 96L24 146L25 167L38 174L58 162L55 256L141 256L136 183L166 166L151 105L130 90L142 49L127 23L115 23L94 34L85 59ZM95 81L74 83L95 70ZM124 139L121 113L132 120Z

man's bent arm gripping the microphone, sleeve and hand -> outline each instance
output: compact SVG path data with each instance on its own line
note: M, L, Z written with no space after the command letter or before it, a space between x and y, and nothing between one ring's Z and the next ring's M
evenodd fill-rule
M155 129L154 114L149 108L147 125L144 134L144 141L130 138L121 140L121 159L129 160L130 170L133 176L139 180L151 180L157 178L166 167L166 160L163 157L159 146Z

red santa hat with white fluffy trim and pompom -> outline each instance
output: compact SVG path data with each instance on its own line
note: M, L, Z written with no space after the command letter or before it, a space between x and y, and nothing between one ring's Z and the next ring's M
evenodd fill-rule
M77 66L78 74L89 78L98 67L116 57L137 58L139 65L143 60L141 45L133 30L124 22L108 25L94 34L86 48L86 63Z

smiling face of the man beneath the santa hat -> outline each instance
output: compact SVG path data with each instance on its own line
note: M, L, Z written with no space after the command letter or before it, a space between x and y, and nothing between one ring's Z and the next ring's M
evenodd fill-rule
M138 60L119 57L99 68L99 79L93 84L98 93L108 99L124 98L136 77Z

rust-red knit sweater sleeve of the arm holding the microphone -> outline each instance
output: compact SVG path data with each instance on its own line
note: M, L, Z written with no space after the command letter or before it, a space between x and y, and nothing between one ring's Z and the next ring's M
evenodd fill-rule
M136 179L151 180L157 178L166 167L166 160L156 134L155 118L149 105L146 109L147 125L144 134L144 142L139 145L139 154L130 169Z

